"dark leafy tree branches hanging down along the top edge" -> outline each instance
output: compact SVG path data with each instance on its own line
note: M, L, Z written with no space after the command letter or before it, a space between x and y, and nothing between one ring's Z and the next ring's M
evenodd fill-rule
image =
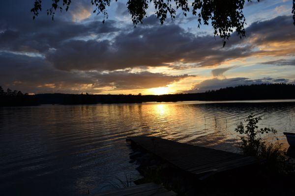
M170 16L172 20L175 19L177 9L180 9L184 16L191 11L198 17L198 27L202 23L209 25L211 22L214 36L220 36L225 46L225 40L230 38L233 31L236 31L240 38L245 36L246 19L243 14L245 1L251 2L251 0L193 0L190 4L188 0L128 0L127 9L135 26L143 23L150 4L154 6L155 15L161 24L164 24L167 16ZM91 0L94 6L93 13L102 14L103 23L108 18L106 7L110 6L110 3L111 0ZM57 10L62 11L65 8L68 11L70 4L71 0L52 0L52 7L47 9L47 15L51 15L54 19ZM31 9L33 19L38 16L41 9L42 0L35 0L34 7ZM292 14L295 25L295 0L293 0Z

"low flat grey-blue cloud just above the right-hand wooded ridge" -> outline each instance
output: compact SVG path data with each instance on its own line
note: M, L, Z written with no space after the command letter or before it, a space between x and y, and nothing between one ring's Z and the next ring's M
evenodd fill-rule
M207 79L199 84L196 84L191 90L186 91L185 93L200 93L206 92L209 90L217 90L220 88L234 87L239 85L251 85L251 84L262 84L262 83L287 83L289 79L285 78L271 78L264 77L261 79L250 79L246 77L236 77L236 78L212 78Z

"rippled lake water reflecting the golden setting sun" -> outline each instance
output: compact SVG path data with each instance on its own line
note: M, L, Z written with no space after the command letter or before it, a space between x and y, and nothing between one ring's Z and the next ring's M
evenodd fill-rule
M157 136L237 152L236 124L295 132L295 102L189 101L0 108L1 195L90 195L139 177L125 138ZM289 100L295 101L295 100ZM266 135L267 138L270 136Z

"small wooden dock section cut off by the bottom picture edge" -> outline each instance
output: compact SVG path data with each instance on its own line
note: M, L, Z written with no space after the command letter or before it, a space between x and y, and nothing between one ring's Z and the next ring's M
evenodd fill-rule
M147 183L114 191L103 192L96 196L176 196L176 193L168 191L162 185Z

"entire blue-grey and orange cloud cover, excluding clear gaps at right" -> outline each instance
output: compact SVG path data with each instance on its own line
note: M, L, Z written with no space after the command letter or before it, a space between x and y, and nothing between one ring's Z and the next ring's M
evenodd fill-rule
M57 14L52 22L44 11L32 21L28 11L30 3L3 2L0 10L2 85L14 85L15 89L28 92L79 93L87 89L97 93L104 87L135 89L166 86L191 77L183 74L191 72L190 68L198 72L198 67L208 67L213 69L211 73L217 78L205 80L193 90L211 89L251 82L288 81L284 78L226 79L224 73L233 67L217 66L229 61L235 63L247 58L275 57L273 59L279 60L263 64L295 63L294 60L286 60L294 56L295 51L292 16L255 22L247 27L246 38L240 40L233 34L223 48L219 38L204 33L193 34L181 23L167 21L165 25L159 25L154 15L146 18L144 25L137 28L113 20L102 24L99 17L95 21L88 18L88 10L93 8L88 0L75 3L68 13ZM79 9L80 6L83 9ZM15 14L11 14L12 10L16 10ZM127 14L126 5L119 2L113 12L119 17ZM186 19L191 20L193 18ZM173 69L175 75L134 72L161 66ZM177 70L182 71L177 73Z

